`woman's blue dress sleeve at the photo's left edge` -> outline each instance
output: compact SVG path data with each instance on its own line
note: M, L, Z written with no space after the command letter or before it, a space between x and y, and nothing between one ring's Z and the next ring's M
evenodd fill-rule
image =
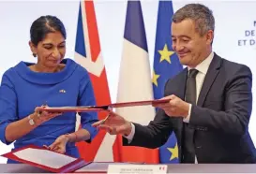
M15 121L18 121L17 96L13 84L4 74L0 86L0 140L5 144L11 143L6 140L6 128Z

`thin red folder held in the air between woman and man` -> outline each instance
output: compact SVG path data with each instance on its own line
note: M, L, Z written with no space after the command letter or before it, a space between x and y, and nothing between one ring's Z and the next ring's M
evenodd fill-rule
M144 101L133 101L133 102L123 102L123 103L113 103L104 106L82 106L82 107L44 107L42 110L54 111L54 112L86 112L86 111L100 111L105 109L123 108L123 107L135 107L135 106L145 106L154 104L164 104L170 102L170 99L159 99L159 100L144 100Z

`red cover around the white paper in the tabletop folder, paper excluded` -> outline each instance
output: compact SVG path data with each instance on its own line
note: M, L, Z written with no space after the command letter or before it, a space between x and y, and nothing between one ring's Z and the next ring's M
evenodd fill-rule
M23 163L23 164L28 164L28 165L31 165L31 166L34 166L34 167L40 167L44 170L51 171L51 172L54 172L54 173L73 172L73 171L89 164L81 158L75 158L75 160L73 162L68 163L67 165L65 165L63 167L55 168L55 167L48 167L48 166L40 165L38 163L29 161L29 160L23 160L22 158L19 158L18 156L15 155L15 152L22 152L23 150L26 150L26 149L50 151L50 150L47 150L46 148L38 147L38 146L35 146L35 145L29 145L29 146L25 146L21 149L17 149L17 150L12 151L12 152L2 154L2 156L7 157L7 158L9 158L11 160L14 160L14 161L18 161L18 162ZM58 152L54 152L54 153L57 153L59 155L65 155L65 154L61 154L61 153L58 153ZM35 154L35 155L37 156L37 154ZM40 158L40 156L37 156L37 157L38 157L38 159ZM53 160L53 162L54 162L55 159L53 158L51 160Z

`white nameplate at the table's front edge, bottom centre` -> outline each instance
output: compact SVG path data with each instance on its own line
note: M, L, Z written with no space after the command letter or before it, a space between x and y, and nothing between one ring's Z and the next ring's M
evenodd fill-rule
M167 165L109 165L108 173L166 174Z

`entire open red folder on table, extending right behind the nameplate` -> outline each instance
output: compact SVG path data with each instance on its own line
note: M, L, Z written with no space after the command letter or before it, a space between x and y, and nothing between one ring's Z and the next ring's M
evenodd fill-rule
M25 146L2 154L11 160L54 173L107 173L109 165L143 165L144 163L85 162L66 154L53 152L35 145Z

